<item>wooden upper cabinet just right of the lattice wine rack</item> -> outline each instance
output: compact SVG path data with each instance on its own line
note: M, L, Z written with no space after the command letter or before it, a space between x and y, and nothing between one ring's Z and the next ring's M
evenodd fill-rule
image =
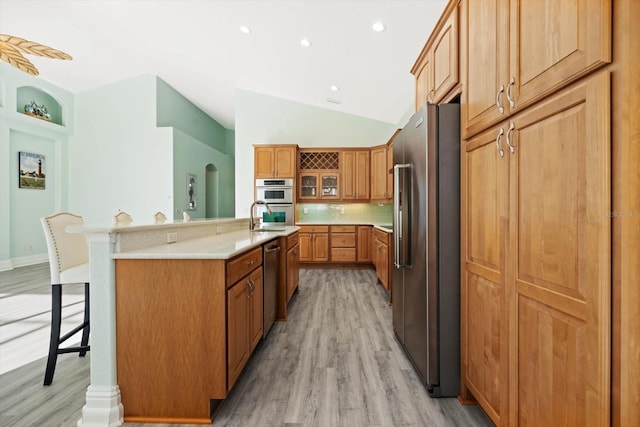
M370 150L343 150L340 153L343 200L369 200Z

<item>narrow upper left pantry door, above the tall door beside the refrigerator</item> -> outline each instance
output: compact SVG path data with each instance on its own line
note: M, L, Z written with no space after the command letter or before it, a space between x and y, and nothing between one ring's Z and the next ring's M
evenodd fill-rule
M461 65L463 138L502 120L509 112L507 0L465 1L462 6ZM503 106L502 112L496 106Z

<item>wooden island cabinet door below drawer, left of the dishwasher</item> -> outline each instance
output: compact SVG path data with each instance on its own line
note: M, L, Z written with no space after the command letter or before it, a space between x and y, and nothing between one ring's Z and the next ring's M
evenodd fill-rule
M262 267L227 289L227 388L262 338Z

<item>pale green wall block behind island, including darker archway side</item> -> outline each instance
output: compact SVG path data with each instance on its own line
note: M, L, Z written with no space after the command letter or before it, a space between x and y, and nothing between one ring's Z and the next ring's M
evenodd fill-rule
M130 214L137 224L151 223L158 211L181 220L187 172L204 174L204 167L213 163L225 176L233 176L232 157L223 152L226 130L156 76L85 92L76 104L70 206L82 210L90 222L109 223L118 211ZM233 184L218 197L227 200L229 192ZM189 215L204 218L205 212Z

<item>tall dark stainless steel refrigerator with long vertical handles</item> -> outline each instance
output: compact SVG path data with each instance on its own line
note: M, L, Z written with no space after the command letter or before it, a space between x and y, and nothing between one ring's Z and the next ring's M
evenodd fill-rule
M393 329L432 397L460 389L460 105L425 104L393 141Z

